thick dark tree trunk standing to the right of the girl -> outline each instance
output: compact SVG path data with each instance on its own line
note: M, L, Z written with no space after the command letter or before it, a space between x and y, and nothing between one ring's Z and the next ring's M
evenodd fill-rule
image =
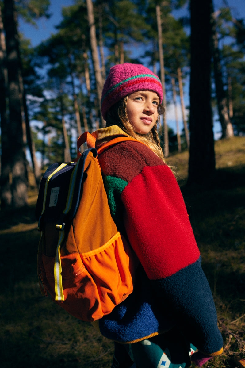
M205 183L215 171L213 116L211 108L212 0L190 0L191 79L190 156L188 184Z

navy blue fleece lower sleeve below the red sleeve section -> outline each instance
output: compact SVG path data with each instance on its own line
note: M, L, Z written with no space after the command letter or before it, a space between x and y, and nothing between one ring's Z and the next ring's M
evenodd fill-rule
M219 351L223 340L217 327L216 309L209 283L197 262L166 279L153 281L175 309L176 322L190 342L205 353Z

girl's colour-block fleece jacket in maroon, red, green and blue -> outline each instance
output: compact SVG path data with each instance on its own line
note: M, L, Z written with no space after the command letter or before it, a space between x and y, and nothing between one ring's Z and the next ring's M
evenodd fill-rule
M127 136L117 125L92 135L96 148ZM98 159L113 219L139 259L134 291L99 320L100 332L129 343L178 326L203 353L221 354L212 293L171 169L133 141L111 146Z

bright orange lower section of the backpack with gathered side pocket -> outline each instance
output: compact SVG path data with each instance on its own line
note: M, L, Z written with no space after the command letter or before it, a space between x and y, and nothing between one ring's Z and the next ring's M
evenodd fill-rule
M96 250L61 256L64 301L55 300L55 258L42 254L39 269L43 286L71 315L96 321L132 293L131 253L118 232Z

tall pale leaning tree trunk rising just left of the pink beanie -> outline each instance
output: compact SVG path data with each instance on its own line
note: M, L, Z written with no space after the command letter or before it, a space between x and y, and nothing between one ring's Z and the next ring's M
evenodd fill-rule
M99 56L98 56L98 50L97 50L95 17L93 14L93 2L92 0L86 0L86 4L87 4L87 11L88 11L89 36L90 36L90 46L91 46L91 51L92 51L92 61L93 61L93 68L95 71L97 99L99 102L98 106L100 106L100 99L101 99L102 89L103 89L103 81L102 81L102 75L100 72ZM101 110L100 110L100 119L102 122L102 126L104 126L105 122L104 122Z

